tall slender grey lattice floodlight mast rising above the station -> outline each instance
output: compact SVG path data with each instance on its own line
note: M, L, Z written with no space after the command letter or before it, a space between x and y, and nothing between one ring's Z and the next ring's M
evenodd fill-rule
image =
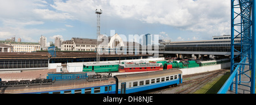
M100 27L101 27L101 14L102 11L100 9L100 11L98 11L96 9L95 14L97 14L97 53L96 53L96 62L99 63L100 62L100 41L98 40L98 36L100 36Z

